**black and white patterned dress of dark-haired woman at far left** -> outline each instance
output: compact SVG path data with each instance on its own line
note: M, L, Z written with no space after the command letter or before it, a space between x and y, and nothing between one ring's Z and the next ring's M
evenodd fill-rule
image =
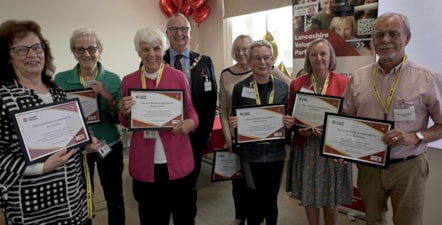
M66 99L51 88L54 102ZM44 104L18 82L0 87L0 207L10 225L83 225L88 221L82 154L42 175L26 175L27 166L11 112Z

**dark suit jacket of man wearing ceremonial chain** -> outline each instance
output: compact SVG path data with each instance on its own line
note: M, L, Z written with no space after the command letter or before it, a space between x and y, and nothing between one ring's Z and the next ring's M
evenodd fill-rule
M190 63L194 62L200 54L190 51ZM170 64L170 53L166 51L164 61ZM208 81L212 85L211 91L204 91L204 82L207 75ZM212 133L213 121L215 119L216 100L217 100L217 86L215 71L213 68L212 59L209 56L203 55L198 61L198 64L191 70L191 90L193 107L195 108L198 119L200 121L195 132L190 133L192 146L194 151L202 151L209 148L210 135Z

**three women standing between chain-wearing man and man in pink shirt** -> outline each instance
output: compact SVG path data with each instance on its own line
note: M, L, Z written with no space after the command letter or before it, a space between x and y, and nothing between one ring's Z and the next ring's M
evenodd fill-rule
M220 76L220 120L224 148L239 154L243 178L232 181L235 219L232 224L276 225L284 159L285 140L241 144L234 140L237 107L286 104L284 125L292 137L287 191L301 200L311 225L319 224L319 207L324 207L326 224L336 224L338 205L352 201L351 164L337 163L319 156L321 132L317 128L293 126L291 111L295 92L302 89L316 94L342 96L349 80L336 74L336 56L326 39L317 39L307 48L304 70L307 74L289 82L274 69L272 45L265 40L251 41L246 35L235 39L232 55L236 64ZM288 88L290 87L290 89ZM290 90L290 91L289 91ZM247 95L245 93L253 93Z

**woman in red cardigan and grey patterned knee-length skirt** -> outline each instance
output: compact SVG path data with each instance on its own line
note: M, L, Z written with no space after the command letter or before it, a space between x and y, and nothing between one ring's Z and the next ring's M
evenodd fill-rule
M319 155L322 132L318 127L295 125L292 111L295 92L342 96L348 77L334 73L336 55L326 39L316 39L307 47L302 75L290 84L286 128L293 132L287 171L287 191L301 201L310 225L320 224L319 209L324 209L326 225L336 225L338 205L352 202L351 164Z

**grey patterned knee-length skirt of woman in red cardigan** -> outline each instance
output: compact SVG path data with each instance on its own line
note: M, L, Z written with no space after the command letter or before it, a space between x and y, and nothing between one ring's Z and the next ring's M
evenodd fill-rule
M319 155L321 140L306 139L304 148L292 145L287 176L287 191L301 200L302 206L335 207L352 202L351 164L335 162Z

